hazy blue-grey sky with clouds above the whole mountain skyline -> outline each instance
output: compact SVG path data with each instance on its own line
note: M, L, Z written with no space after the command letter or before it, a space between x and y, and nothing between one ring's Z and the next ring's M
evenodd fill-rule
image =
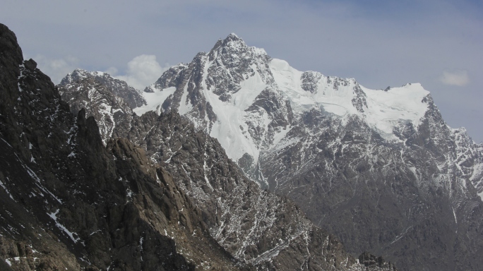
M235 32L300 71L422 83L451 127L483 141L483 0L3 0L0 18L54 83L84 68L143 88Z

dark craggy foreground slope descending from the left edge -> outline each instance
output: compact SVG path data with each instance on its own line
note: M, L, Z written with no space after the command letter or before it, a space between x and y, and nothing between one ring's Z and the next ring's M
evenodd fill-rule
M1 270L239 270L201 211L125 138L107 140L0 25Z

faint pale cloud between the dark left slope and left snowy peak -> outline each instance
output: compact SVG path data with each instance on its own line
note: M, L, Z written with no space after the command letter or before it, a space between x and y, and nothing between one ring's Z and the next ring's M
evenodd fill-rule
M52 79L54 84L60 83L67 73L71 73L77 68L78 59L73 56L66 56L64 59L49 59L47 56L37 54L32 57L37 66L43 73Z

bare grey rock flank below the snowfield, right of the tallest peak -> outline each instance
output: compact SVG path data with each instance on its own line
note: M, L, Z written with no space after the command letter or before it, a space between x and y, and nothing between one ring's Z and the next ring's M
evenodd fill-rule
M427 101L422 124L396 126L395 143L358 117L342 124L310 112L305 119L325 129L292 130L296 144L263 157L270 186L350 249L384 251L407 270L479 270L470 255L482 249L482 202L471 178L481 147Z

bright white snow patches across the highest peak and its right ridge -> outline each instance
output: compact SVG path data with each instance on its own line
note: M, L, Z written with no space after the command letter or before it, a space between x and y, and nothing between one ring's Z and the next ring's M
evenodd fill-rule
M232 42L233 43L233 42ZM246 46L234 42L230 46ZM306 91L302 88L302 75L304 72L297 71L292 68L286 61L280 59L272 59L268 62L268 66L263 58L258 59L266 52L263 49L254 47L247 47L253 52L253 57L257 58L254 64L251 64L251 70L254 73L249 74L239 83L239 90L230 93L231 99L220 100L220 96L209 90L206 85L208 78L208 68L214 65L216 59L208 59L208 56L202 56L201 65L203 67L203 77L196 82L200 82L201 95L198 99L205 99L207 103L213 108L217 120L209 126L204 127L207 132L213 137L217 138L222 147L225 148L229 158L237 161L245 153L254 158L254 163L258 161L262 149L270 151L275 149L276 145L286 145L293 143L295 138L285 140L285 135L290 131L290 126L280 127L274 132L273 138L268 138L268 126L270 124L270 116L263 110L258 112L246 111L256 97L265 89L279 93L283 98L290 101L290 105L294 115L301 116L303 112L311 109L316 109L324 112L324 114L333 114L342 118L342 123L347 119L347 116L360 116L366 124L374 128L374 130L381 133L381 135L390 140L398 140L393 135L393 128L399 123L412 122L415 126L419 124L419 119L424 116L427 111L427 103L422 102L429 92L424 90L419 84L407 84L400 88L390 88L388 91L384 90L370 90L364 88L356 80L337 78L334 76L323 76L321 73L311 72L316 75L318 81L316 90L314 92ZM232 56L234 57L234 56ZM263 74L261 74L263 73ZM270 77L267 79L267 76ZM273 80L271 77L273 76ZM189 78L191 82L192 78ZM274 83L266 83L274 82ZM189 100L191 96L188 93L188 85L183 85L183 89L176 88L157 89L155 85L150 86L153 92L143 92L145 100L148 102L144 107L134 109L136 114L141 115L149 110L153 110L158 114L162 111L160 108L162 103L174 92L181 92L179 114L186 115L190 119L193 112L193 101ZM366 102L363 106L364 111L359 112L354 107L354 99L357 99L355 90L360 90L365 95ZM196 114L195 114L196 115ZM196 117L195 117L196 118ZM191 119L196 126L203 121L209 122L208 119ZM256 142L255 138L248 133L249 124L255 125L258 129L261 138ZM252 127L253 128L253 127ZM262 143L269 142L270 145L262 146ZM280 147L280 146L278 146Z

